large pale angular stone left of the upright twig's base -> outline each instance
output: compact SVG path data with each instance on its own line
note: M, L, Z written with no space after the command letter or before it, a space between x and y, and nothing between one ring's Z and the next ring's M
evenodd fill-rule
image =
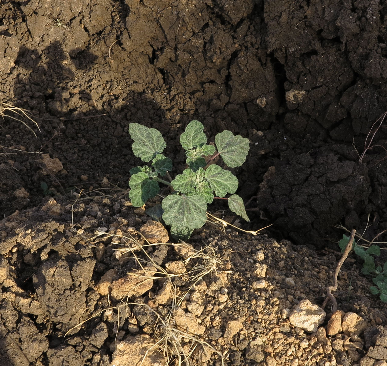
M317 332L319 324L324 322L326 313L309 300L302 300L290 314L289 321L295 327L307 332Z

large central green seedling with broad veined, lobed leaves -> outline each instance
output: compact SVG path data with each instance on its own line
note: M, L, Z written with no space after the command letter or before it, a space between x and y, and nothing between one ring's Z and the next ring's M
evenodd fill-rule
M215 136L215 147L207 145L203 129L203 124L197 120L188 124L180 136L188 168L176 175L171 182L167 182L160 177L172 170L172 161L162 154L166 148L163 136L157 129L138 123L129 124L129 134L134 140L134 155L143 162L151 162L151 166L130 170L129 198L133 206L141 207L159 193L159 183L170 186L172 192L163 199L161 205L162 217L166 225L171 226L171 234L176 239L186 240L195 228L204 225L207 220L207 205L214 198L227 199L231 211L250 221L243 199L233 194L238 188L238 179L219 165L209 165L220 155L228 167L239 167L245 162L250 148L248 139L240 135L234 136L231 131L225 130ZM225 198L228 193L232 195Z

